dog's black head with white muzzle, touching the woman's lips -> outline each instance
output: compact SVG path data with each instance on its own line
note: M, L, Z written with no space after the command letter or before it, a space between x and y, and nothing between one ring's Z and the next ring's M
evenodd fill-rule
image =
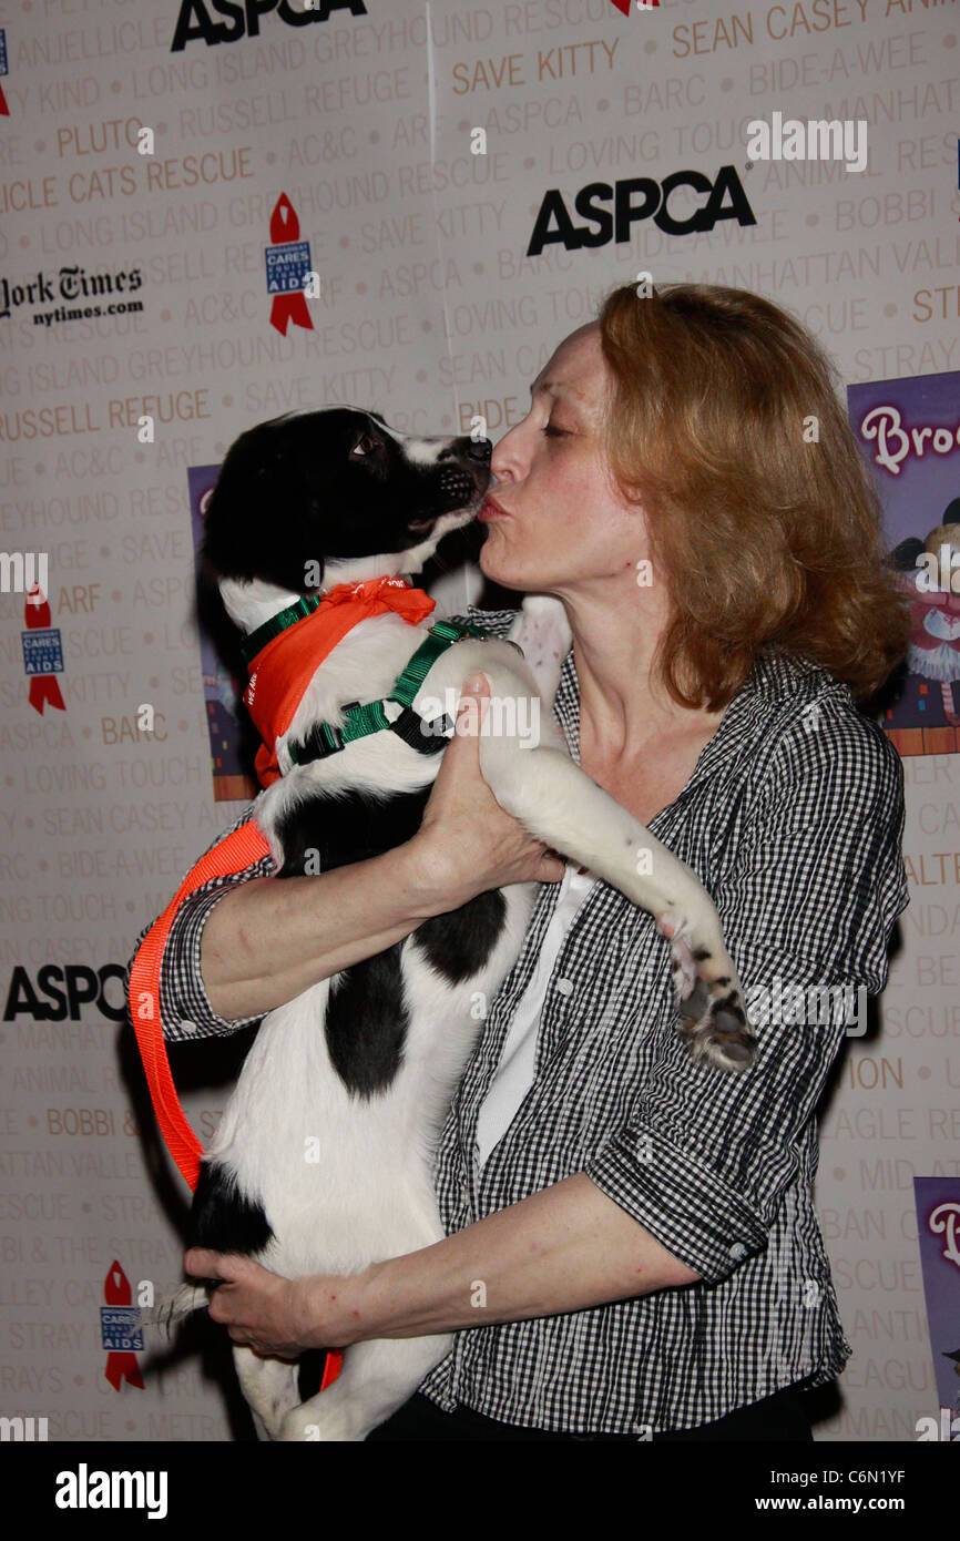
M488 439L415 438L356 407L274 418L231 445L203 555L220 579L293 593L419 572L479 509L490 453Z

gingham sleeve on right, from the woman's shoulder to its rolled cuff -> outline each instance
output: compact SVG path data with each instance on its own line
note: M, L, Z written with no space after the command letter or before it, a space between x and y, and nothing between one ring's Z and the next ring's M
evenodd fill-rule
M584 1168L706 1282L766 1247L858 986L886 985L903 823L877 724L827 697L789 726L713 892L757 1057L740 1074L697 1065L666 1008L629 1122Z

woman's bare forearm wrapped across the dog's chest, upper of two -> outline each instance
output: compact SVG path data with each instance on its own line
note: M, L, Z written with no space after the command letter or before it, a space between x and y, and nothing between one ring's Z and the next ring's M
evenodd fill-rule
M444 908L410 843L316 877L251 878L203 926L206 997L228 1022L274 1011Z

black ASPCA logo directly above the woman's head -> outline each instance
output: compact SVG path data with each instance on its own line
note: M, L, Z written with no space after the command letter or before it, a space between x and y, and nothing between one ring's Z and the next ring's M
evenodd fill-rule
M670 211L670 197L681 186L706 196L706 202L684 219ZM613 206L604 208L609 203ZM703 171L673 171L663 182L652 177L630 177L613 186L590 182L573 199L573 208L586 225L573 223L559 188L544 194L527 247L529 257L538 257L544 247L561 245L576 251L579 247L629 240L630 227L638 219L652 219L667 236L700 234L713 230L721 219L735 219L738 225L757 223L735 166L721 166L715 182Z

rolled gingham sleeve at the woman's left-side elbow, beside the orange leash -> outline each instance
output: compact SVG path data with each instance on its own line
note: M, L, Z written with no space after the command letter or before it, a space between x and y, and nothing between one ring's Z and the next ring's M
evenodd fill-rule
M259 801L259 798L254 800L254 803L250 803L237 821L222 835L217 835L217 838L206 849L213 851L220 840L225 840L228 834L233 834L234 829L245 824L253 817L256 801ZM205 854L206 852L203 852L203 855ZM179 905L166 935L166 942L163 943L163 954L160 959L160 1022L163 1025L163 1037L168 1042L176 1043L190 1042L193 1039L219 1037L228 1032L236 1032L239 1028L250 1026L250 1023L260 1020L257 1016L228 1020L227 1017L219 1017L216 1014L206 997L206 988L200 972L200 942L203 937L203 926L206 925L213 909L222 898L227 897L227 894L231 894L240 883L247 883L250 878L270 877L273 871L273 858L268 855L262 857L259 861L251 863L240 872L231 872L225 877L211 878ZM137 957L137 952L140 951L140 946L154 923L156 922L151 920L137 937L137 945L126 968L128 988L129 971L134 965L134 959Z

